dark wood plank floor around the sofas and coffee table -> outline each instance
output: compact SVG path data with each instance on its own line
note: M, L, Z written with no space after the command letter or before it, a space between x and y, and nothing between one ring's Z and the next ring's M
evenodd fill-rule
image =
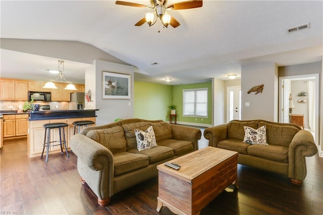
M49 155L48 163L28 158L26 139L10 140L1 151L1 214L158 214L158 179L113 196L98 206L81 184L71 153ZM323 158L306 158L307 177L301 186L287 177L238 165L240 188L227 188L201 214L322 214ZM8 214L8 212L7 212ZM173 214L163 207L159 214Z

